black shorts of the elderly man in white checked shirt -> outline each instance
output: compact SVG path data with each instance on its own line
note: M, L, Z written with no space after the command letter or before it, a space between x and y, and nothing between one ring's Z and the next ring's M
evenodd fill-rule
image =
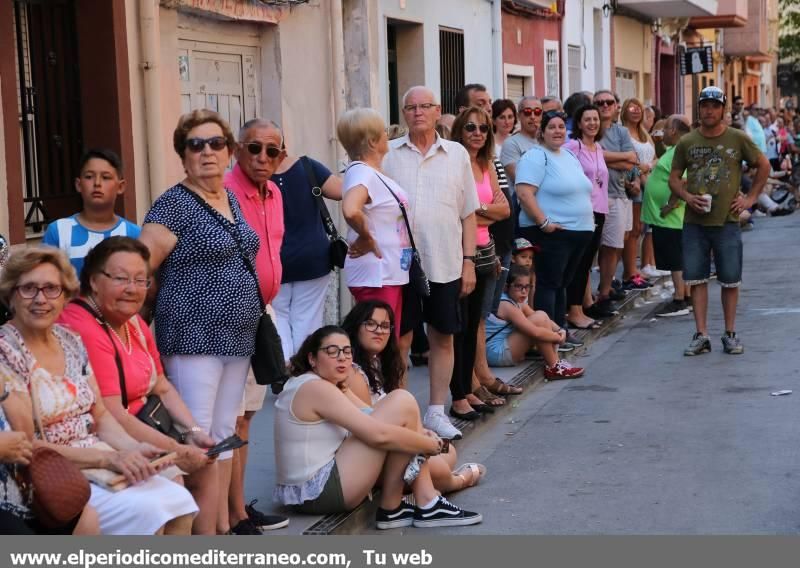
M428 298L420 298L412 286L403 286L400 335L414 331L423 321L445 335L461 331L460 294L461 278L444 284L431 282L431 295Z

